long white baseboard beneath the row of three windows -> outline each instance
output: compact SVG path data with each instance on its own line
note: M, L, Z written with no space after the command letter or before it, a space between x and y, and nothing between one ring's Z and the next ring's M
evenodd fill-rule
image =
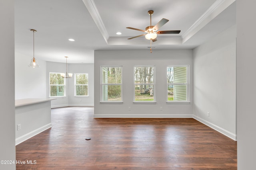
M94 118L192 118L191 114L94 114Z

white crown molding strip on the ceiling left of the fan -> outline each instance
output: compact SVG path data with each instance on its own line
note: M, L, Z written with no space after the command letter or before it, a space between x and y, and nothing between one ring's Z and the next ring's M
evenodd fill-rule
M100 17L100 13L99 13L94 1L93 0L83 0L83 2L85 4L87 10L91 14L92 19L96 23L98 29L100 30L100 33L102 34L106 43L108 43L109 35L108 35L108 32L106 30L106 27L105 27L101 17Z

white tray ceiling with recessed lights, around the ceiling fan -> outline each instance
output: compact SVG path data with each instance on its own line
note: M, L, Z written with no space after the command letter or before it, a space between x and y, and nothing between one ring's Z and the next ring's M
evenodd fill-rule
M149 51L144 36L128 40L150 25L168 21L159 30L181 30L158 35L154 50L193 49L236 24L235 0L15 0L15 51L35 58L65 63L94 63L94 50ZM122 35L116 35L121 32ZM68 41L68 39L75 41Z

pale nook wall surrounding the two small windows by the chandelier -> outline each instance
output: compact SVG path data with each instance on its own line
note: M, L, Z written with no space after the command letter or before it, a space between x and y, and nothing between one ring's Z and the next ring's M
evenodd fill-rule
M46 94L49 92L49 72L66 72L66 63L47 62ZM94 105L94 65L93 64L68 64L68 72L73 73L72 78L66 78L66 97L57 97L52 100L52 107L66 106L93 106ZM74 73L88 73L89 96L74 97ZM81 100L81 101L80 101Z

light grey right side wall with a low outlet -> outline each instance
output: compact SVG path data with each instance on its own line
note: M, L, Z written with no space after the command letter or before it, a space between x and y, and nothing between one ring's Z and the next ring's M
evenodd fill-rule
M194 117L236 139L236 25L193 52Z

